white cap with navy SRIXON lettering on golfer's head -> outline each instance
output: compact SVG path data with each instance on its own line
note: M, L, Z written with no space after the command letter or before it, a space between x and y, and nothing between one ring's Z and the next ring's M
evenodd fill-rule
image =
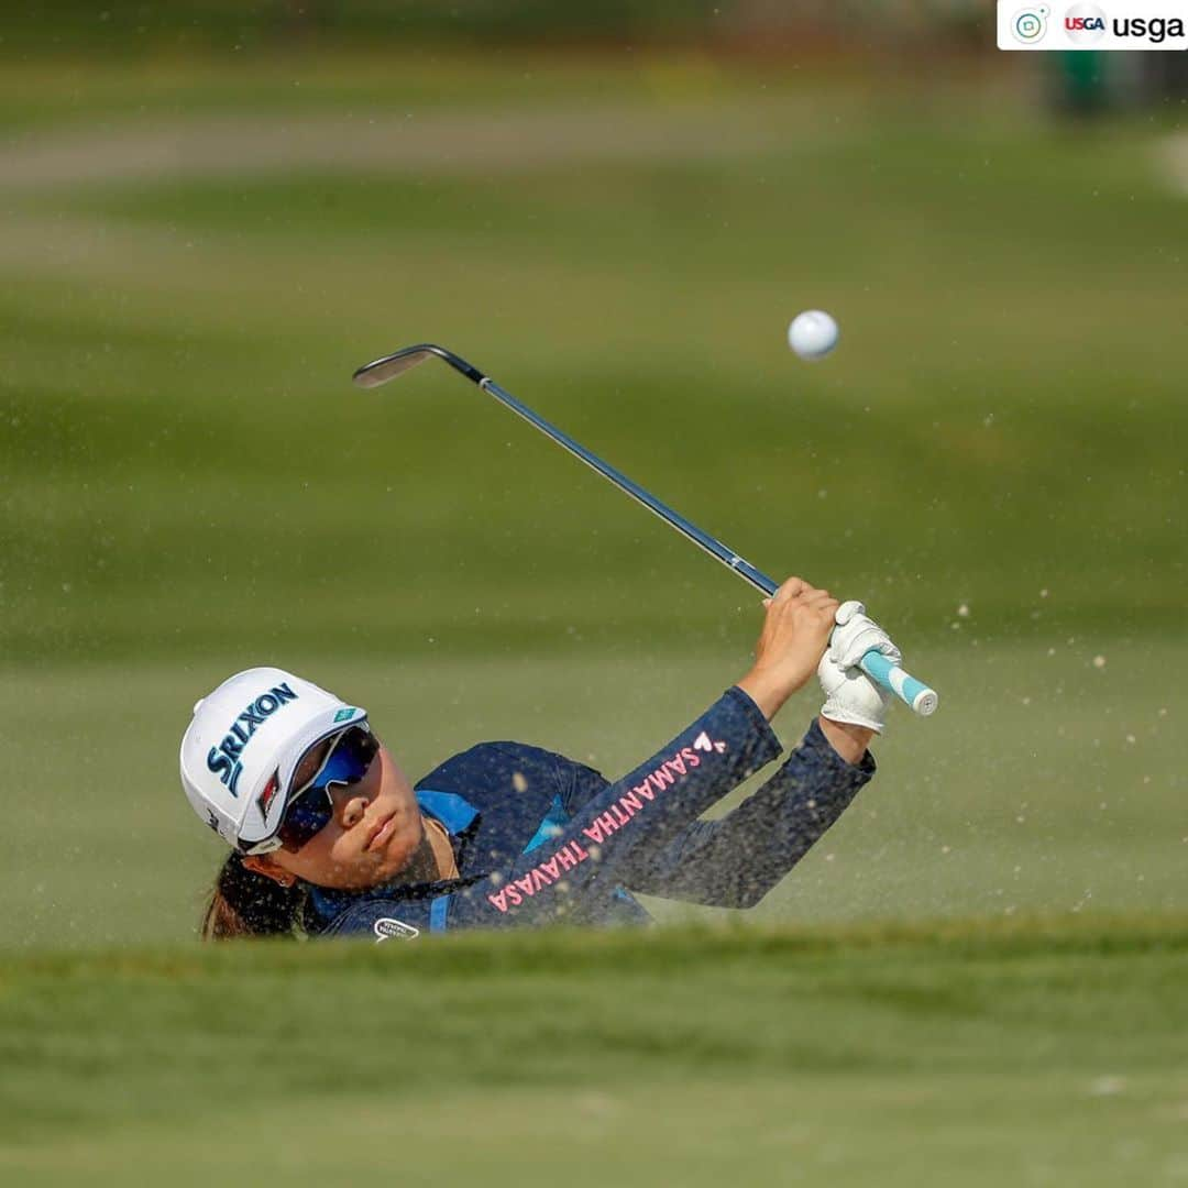
M254 846L280 828L305 752L366 721L367 710L284 669L236 672L194 707L182 735L182 788L223 841Z

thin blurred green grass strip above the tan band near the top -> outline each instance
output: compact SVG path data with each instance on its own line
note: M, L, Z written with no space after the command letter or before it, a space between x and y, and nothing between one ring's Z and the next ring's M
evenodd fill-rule
M719 70L695 52L657 50L614 64L605 53L567 52L546 62L523 48L498 61L456 45L413 43L349 52L289 46L280 53L217 55L178 46L138 59L101 59L77 50L68 57L20 56L0 76L0 126L11 129L86 129L96 119L176 119L195 115L352 114L406 115L412 110L481 109L492 93L500 107L539 108L550 99L582 103L605 96L649 101L742 90L753 93L779 71L747 80Z

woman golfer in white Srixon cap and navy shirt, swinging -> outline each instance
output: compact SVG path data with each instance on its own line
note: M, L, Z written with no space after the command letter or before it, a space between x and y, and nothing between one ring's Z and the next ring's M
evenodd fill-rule
M746 676L615 783L484 742L413 785L366 710L280 669L230 677L182 739L185 794L232 846L203 936L647 921L632 892L754 905L873 775L866 745L890 696L854 665L871 647L899 658L861 604L797 577L766 606ZM826 700L800 746L732 813L700 821L779 754L769 720L814 671Z

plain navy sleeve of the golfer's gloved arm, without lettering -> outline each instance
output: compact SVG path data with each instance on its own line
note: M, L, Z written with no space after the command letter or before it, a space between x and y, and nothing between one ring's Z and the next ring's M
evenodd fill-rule
M814 721L758 791L718 821L695 821L662 847L638 848L631 891L715 908L753 908L809 852L874 775L847 763Z

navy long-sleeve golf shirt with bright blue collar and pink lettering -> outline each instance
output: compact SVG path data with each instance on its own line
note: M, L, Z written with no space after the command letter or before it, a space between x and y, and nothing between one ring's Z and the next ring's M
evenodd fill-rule
M307 930L384 940L647 921L631 891L750 908L874 772L870 754L846 763L814 721L757 792L720 820L699 820L779 752L767 720L738 688L614 783L538 747L480 744L416 785L422 811L449 834L460 878L362 892L314 887Z

